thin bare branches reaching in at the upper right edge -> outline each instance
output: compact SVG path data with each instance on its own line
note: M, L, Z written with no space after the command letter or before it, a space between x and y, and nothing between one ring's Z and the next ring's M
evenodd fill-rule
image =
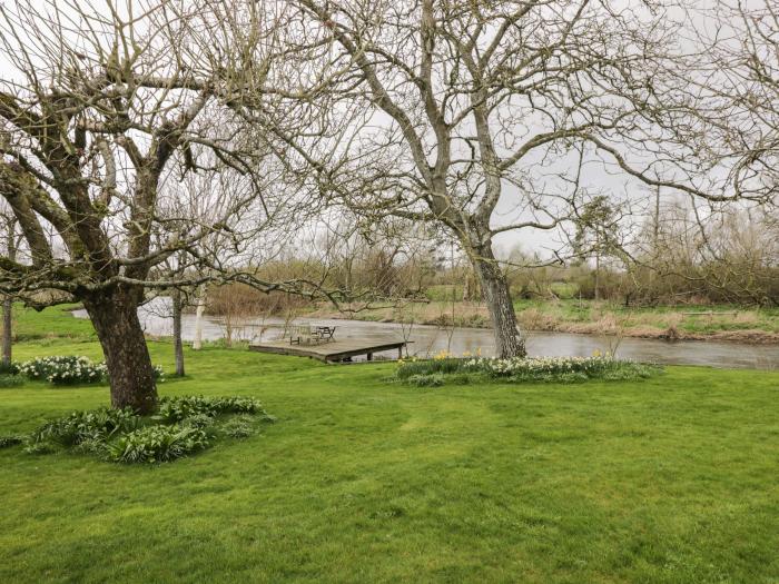
M706 51L694 79L708 102L720 106L702 110L710 119L711 147L727 161L737 190L776 207L779 6L772 0L718 0L699 10L696 20L701 22L696 39Z

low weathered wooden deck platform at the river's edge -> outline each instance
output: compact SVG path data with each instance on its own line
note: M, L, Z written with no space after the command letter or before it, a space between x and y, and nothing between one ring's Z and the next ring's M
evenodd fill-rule
M277 355L295 355L297 357L310 357L325 363L348 362L352 357L365 355L368 360L373 359L374 353L397 349L397 357L403 356L404 340L387 339L359 339L345 338L343 340L331 340L329 343L312 343L290 345L289 339L264 340L249 345L249 350L258 353L275 353Z

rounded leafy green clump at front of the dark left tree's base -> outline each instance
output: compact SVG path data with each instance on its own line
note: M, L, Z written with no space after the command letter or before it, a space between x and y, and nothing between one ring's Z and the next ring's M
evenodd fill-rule
M165 463L210 445L203 428L189 425L147 426L109 443L107 456L118 463Z

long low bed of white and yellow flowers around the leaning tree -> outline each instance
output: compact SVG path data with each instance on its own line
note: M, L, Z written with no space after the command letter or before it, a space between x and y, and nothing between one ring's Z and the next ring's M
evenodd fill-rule
M436 384L435 375L457 384L474 379L492 378L510 383L578 383L588 379L630 380L658 375L657 365L598 357L540 357L540 358L440 358L402 363L395 373L396 379L414 385ZM475 374L470 378L469 374ZM431 379L428 379L431 378Z

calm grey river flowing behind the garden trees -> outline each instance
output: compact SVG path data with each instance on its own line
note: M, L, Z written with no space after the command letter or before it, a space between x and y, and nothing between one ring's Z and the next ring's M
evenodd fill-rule
M172 319L167 298L156 298L138 309L138 316L148 335L170 336ZM85 310L76 310L76 317L87 318ZM492 330L484 328L442 328L428 325L401 325L396 323L369 323L363 320L296 318L296 324L335 326L336 338L397 338L411 342L410 355L433 356L442 350L453 355L465 353L492 356L495 343ZM284 331L280 318L256 318L244 320L233 327L236 340L279 338ZM216 340L225 337L226 326L217 317L204 317L203 339ZM184 315L183 337L193 340L195 315ZM778 345L746 345L710 340L658 340L644 338L608 338L594 335L569 333L531 331L527 352L531 356L590 356L594 352L611 350L618 357L661 363L665 365L706 365L711 367L779 369ZM387 357L394 357L395 352Z

